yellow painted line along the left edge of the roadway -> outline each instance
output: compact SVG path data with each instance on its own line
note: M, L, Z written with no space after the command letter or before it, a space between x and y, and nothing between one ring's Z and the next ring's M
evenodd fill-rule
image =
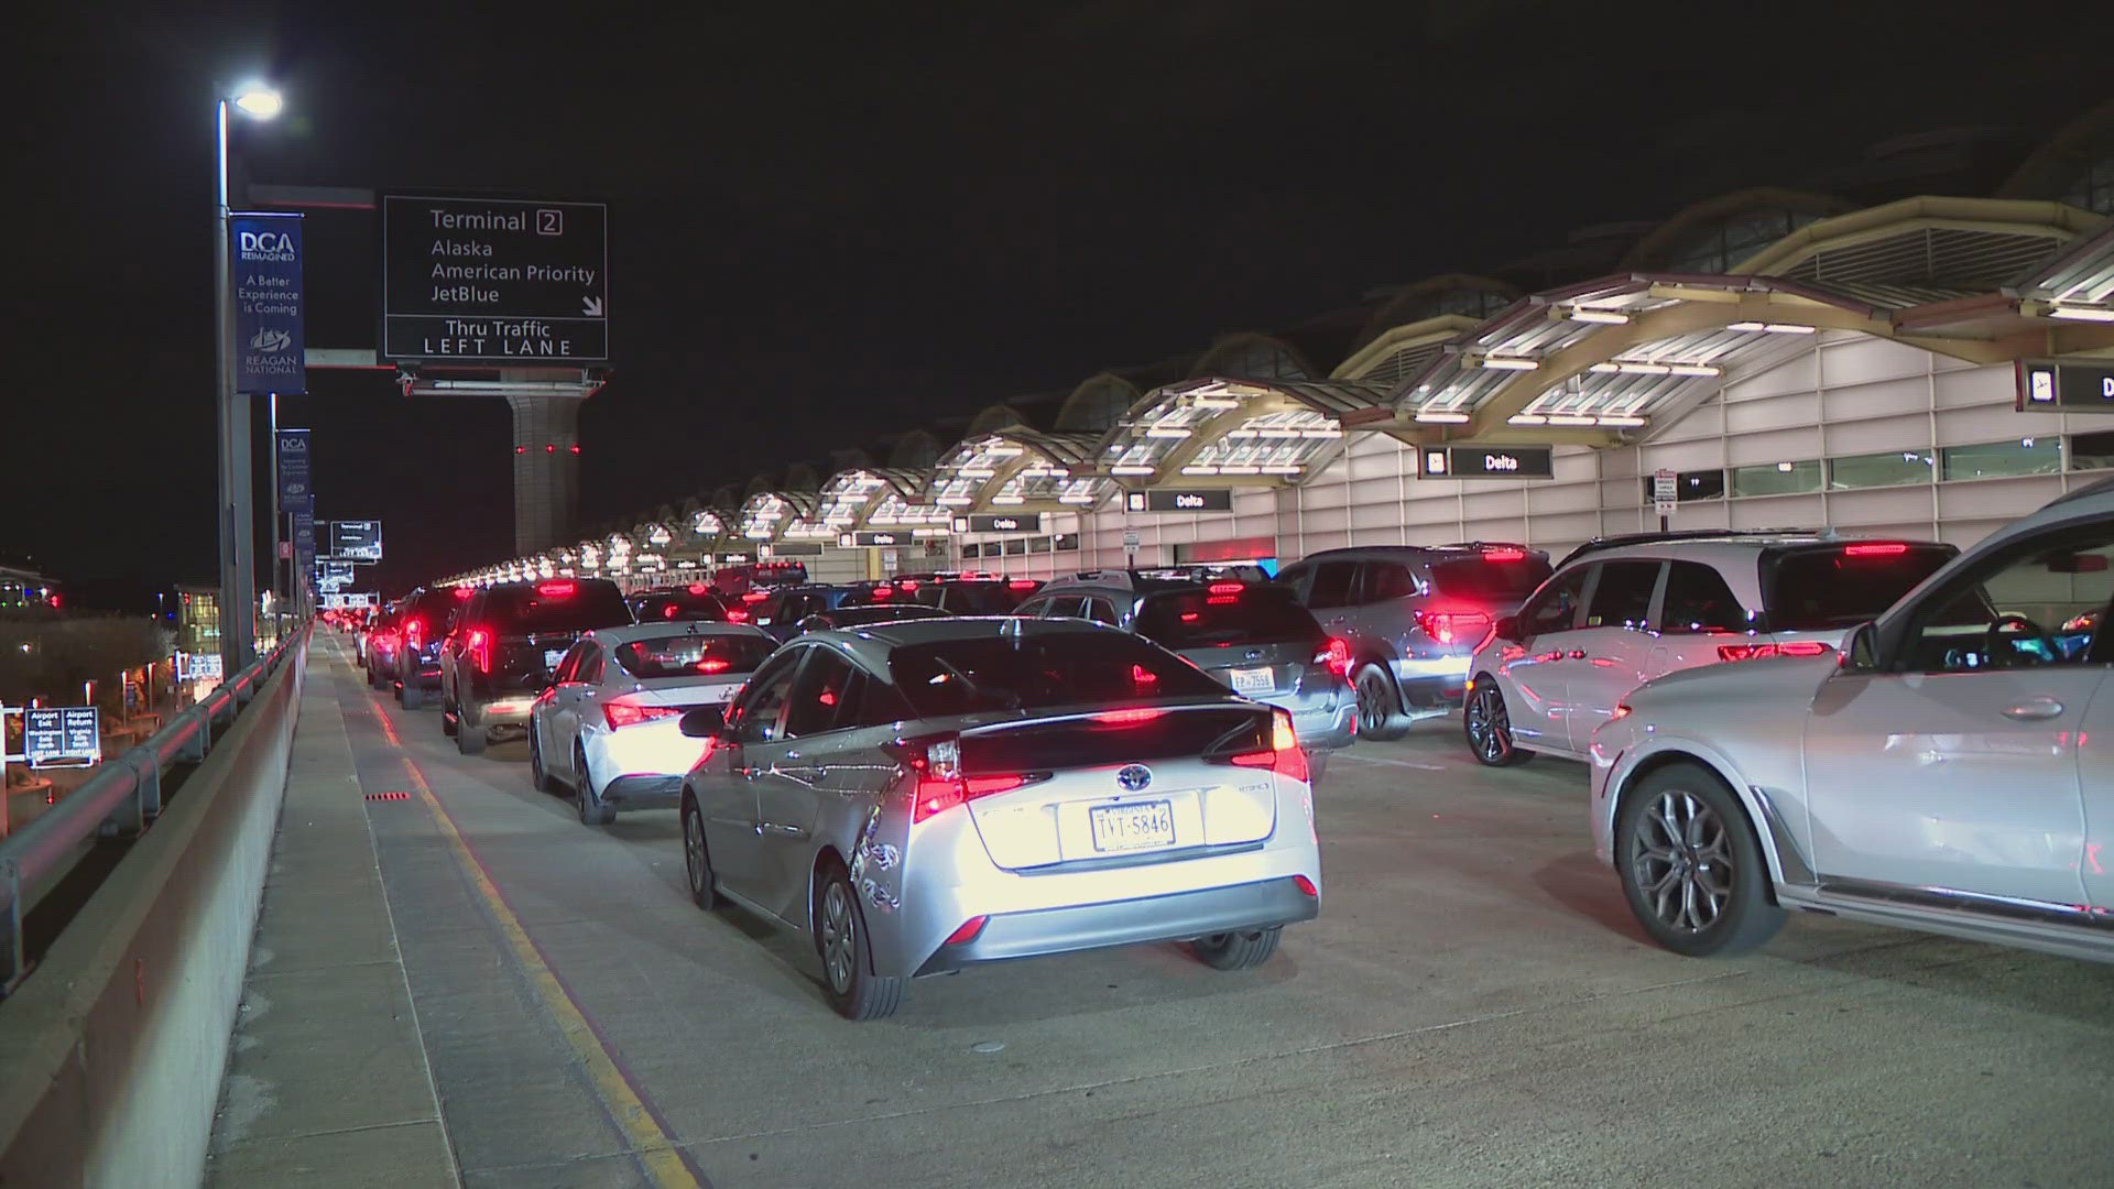
M448 838L448 848L455 850L455 859L463 865L463 874L469 876L478 895L484 897L486 908L493 910L493 920L499 922L499 933L505 935L507 946L514 950L514 961L520 963L522 973L528 975L528 986L535 988L543 1007L548 1007L552 1018L558 1022L558 1032L564 1035L564 1043L571 1045L573 1056L579 1058L579 1064L588 1071L588 1081L594 1085L594 1092L609 1111L609 1117L617 1121L617 1130L624 1132L624 1140L638 1155L638 1164L645 1166L651 1183L666 1189L706 1189L706 1183L691 1172L689 1164L683 1161L683 1153L676 1149L674 1136L670 1136L662 1128L660 1119L653 1117L653 1111L638 1096L638 1090L617 1066L615 1056L611 1056L609 1047L602 1045L594 1026L588 1024L588 1016L579 1009L579 1003L573 1001L573 992L558 982L558 973L543 961L543 952L528 939L528 931L522 929L520 918L514 916L505 897L499 895L499 886L493 884L484 863L478 861L478 855L463 840L463 834L455 827L455 819L448 817L440 798L433 795L433 787L425 783L425 772L421 772L419 764L414 764L408 755L404 757L404 768L410 770L410 779L419 787L419 798L425 802L425 808L433 812L433 821L440 823L440 831Z

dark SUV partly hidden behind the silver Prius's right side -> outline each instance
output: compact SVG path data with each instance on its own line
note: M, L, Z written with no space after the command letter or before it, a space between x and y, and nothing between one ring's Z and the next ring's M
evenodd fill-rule
M1313 783L1328 770L1330 753L1357 736L1349 643L1330 639L1281 586L1101 569L1053 580L1015 614L1137 633L1235 694L1283 707L1306 749Z

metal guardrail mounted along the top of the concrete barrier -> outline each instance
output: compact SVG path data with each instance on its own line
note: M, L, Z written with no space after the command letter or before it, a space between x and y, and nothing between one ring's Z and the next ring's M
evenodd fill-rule
M21 982L23 893L63 874L74 850L91 838L137 838L161 817L161 776L171 764L201 764L214 749L214 730L230 726L309 639L309 626L222 681L218 690L171 717L137 747L104 760L101 772L63 795L42 817L0 840L0 996Z

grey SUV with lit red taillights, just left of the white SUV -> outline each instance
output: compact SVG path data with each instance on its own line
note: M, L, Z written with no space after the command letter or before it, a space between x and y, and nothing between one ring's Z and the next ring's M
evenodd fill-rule
M1351 645L1357 732L1402 738L1467 692L1469 654L1550 575L1550 554L1512 544L1325 550L1277 575Z

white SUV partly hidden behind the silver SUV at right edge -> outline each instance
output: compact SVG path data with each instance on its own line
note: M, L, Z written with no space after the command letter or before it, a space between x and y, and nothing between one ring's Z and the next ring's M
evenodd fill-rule
M1581 760L1624 694L1676 669L1822 656L1945 565L1953 546L1822 531L1588 542L1476 647L1463 730L1488 766Z

